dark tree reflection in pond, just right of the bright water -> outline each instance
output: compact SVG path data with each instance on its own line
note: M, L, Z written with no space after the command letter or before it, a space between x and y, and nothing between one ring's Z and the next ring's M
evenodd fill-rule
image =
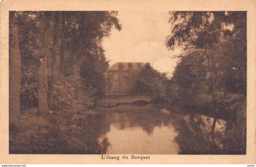
M208 124L210 124L210 120ZM218 145L212 140L212 133L201 115L186 115L173 120L178 132L175 141L179 145L179 154L219 154Z

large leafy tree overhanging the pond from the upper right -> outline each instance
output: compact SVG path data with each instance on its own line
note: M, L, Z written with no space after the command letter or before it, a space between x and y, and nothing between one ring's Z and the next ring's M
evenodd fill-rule
M169 49L183 46L184 54L180 56L180 64L185 61L182 59L185 56L193 56L192 63L201 64L207 74L202 81L208 87L213 100L217 98L216 92L221 92L224 96L227 94L245 96L246 12L170 12L170 14L169 21L174 26L166 45ZM176 68L174 72L176 78L177 73L179 72ZM200 85L196 80L194 82L195 85Z

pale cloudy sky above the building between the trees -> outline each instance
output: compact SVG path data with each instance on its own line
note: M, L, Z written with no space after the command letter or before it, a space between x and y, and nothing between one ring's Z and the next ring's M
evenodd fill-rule
M181 49L168 50L165 41L171 34L168 12L119 11L122 30L112 30L103 47L110 66L116 62L147 62L169 76L177 60L172 58Z

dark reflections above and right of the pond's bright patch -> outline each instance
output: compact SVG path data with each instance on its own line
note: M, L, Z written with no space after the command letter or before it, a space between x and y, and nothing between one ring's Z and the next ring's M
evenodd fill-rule
M122 111L121 107L119 111ZM214 135L213 118L177 112L166 114L155 105L137 107L130 112L108 112L108 120L117 123L120 129L139 126L149 135L156 126L173 126L177 132L174 141L179 145L179 154L244 154L241 147L236 147L239 141L235 138L231 120L217 120Z

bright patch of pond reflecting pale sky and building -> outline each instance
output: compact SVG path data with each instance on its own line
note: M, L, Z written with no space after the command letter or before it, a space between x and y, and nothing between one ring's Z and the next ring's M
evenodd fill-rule
M134 118L135 113L111 113L110 130L102 135L108 138L108 154L177 154L174 138L176 132L172 124L145 124L143 117ZM140 122L135 122L140 121ZM144 123L144 127L143 127Z

